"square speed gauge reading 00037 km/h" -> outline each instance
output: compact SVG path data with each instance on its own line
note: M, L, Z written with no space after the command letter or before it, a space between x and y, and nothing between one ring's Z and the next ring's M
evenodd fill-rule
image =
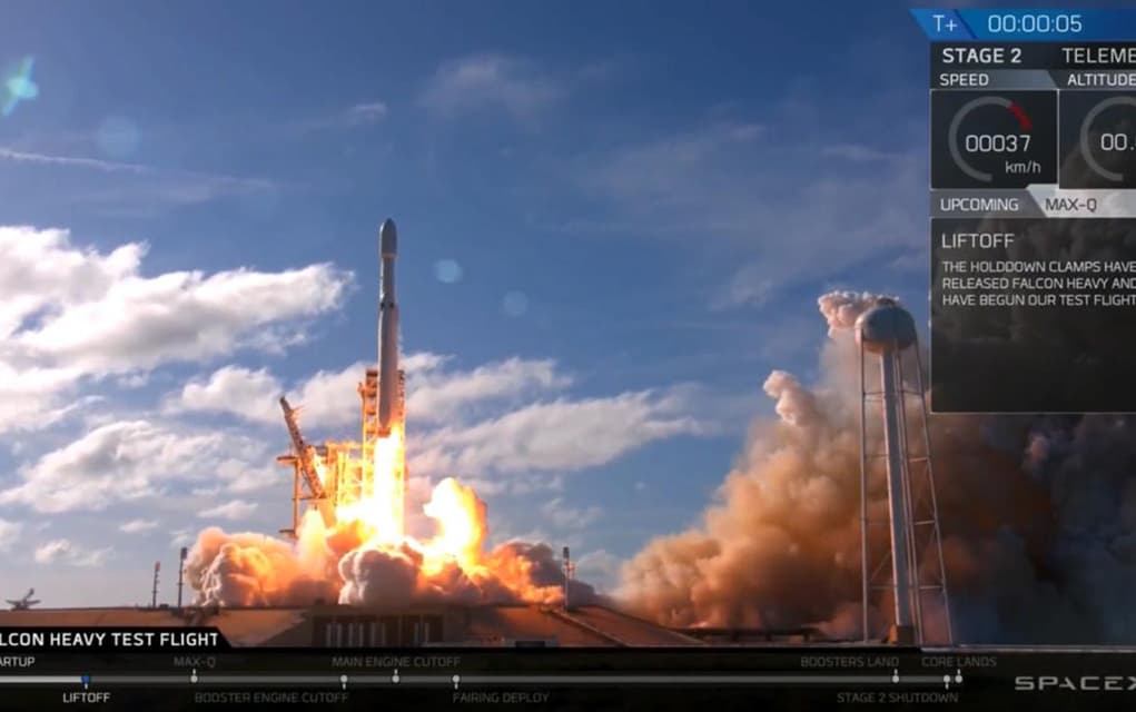
M936 91L932 133L934 189L1056 183L1053 92Z

